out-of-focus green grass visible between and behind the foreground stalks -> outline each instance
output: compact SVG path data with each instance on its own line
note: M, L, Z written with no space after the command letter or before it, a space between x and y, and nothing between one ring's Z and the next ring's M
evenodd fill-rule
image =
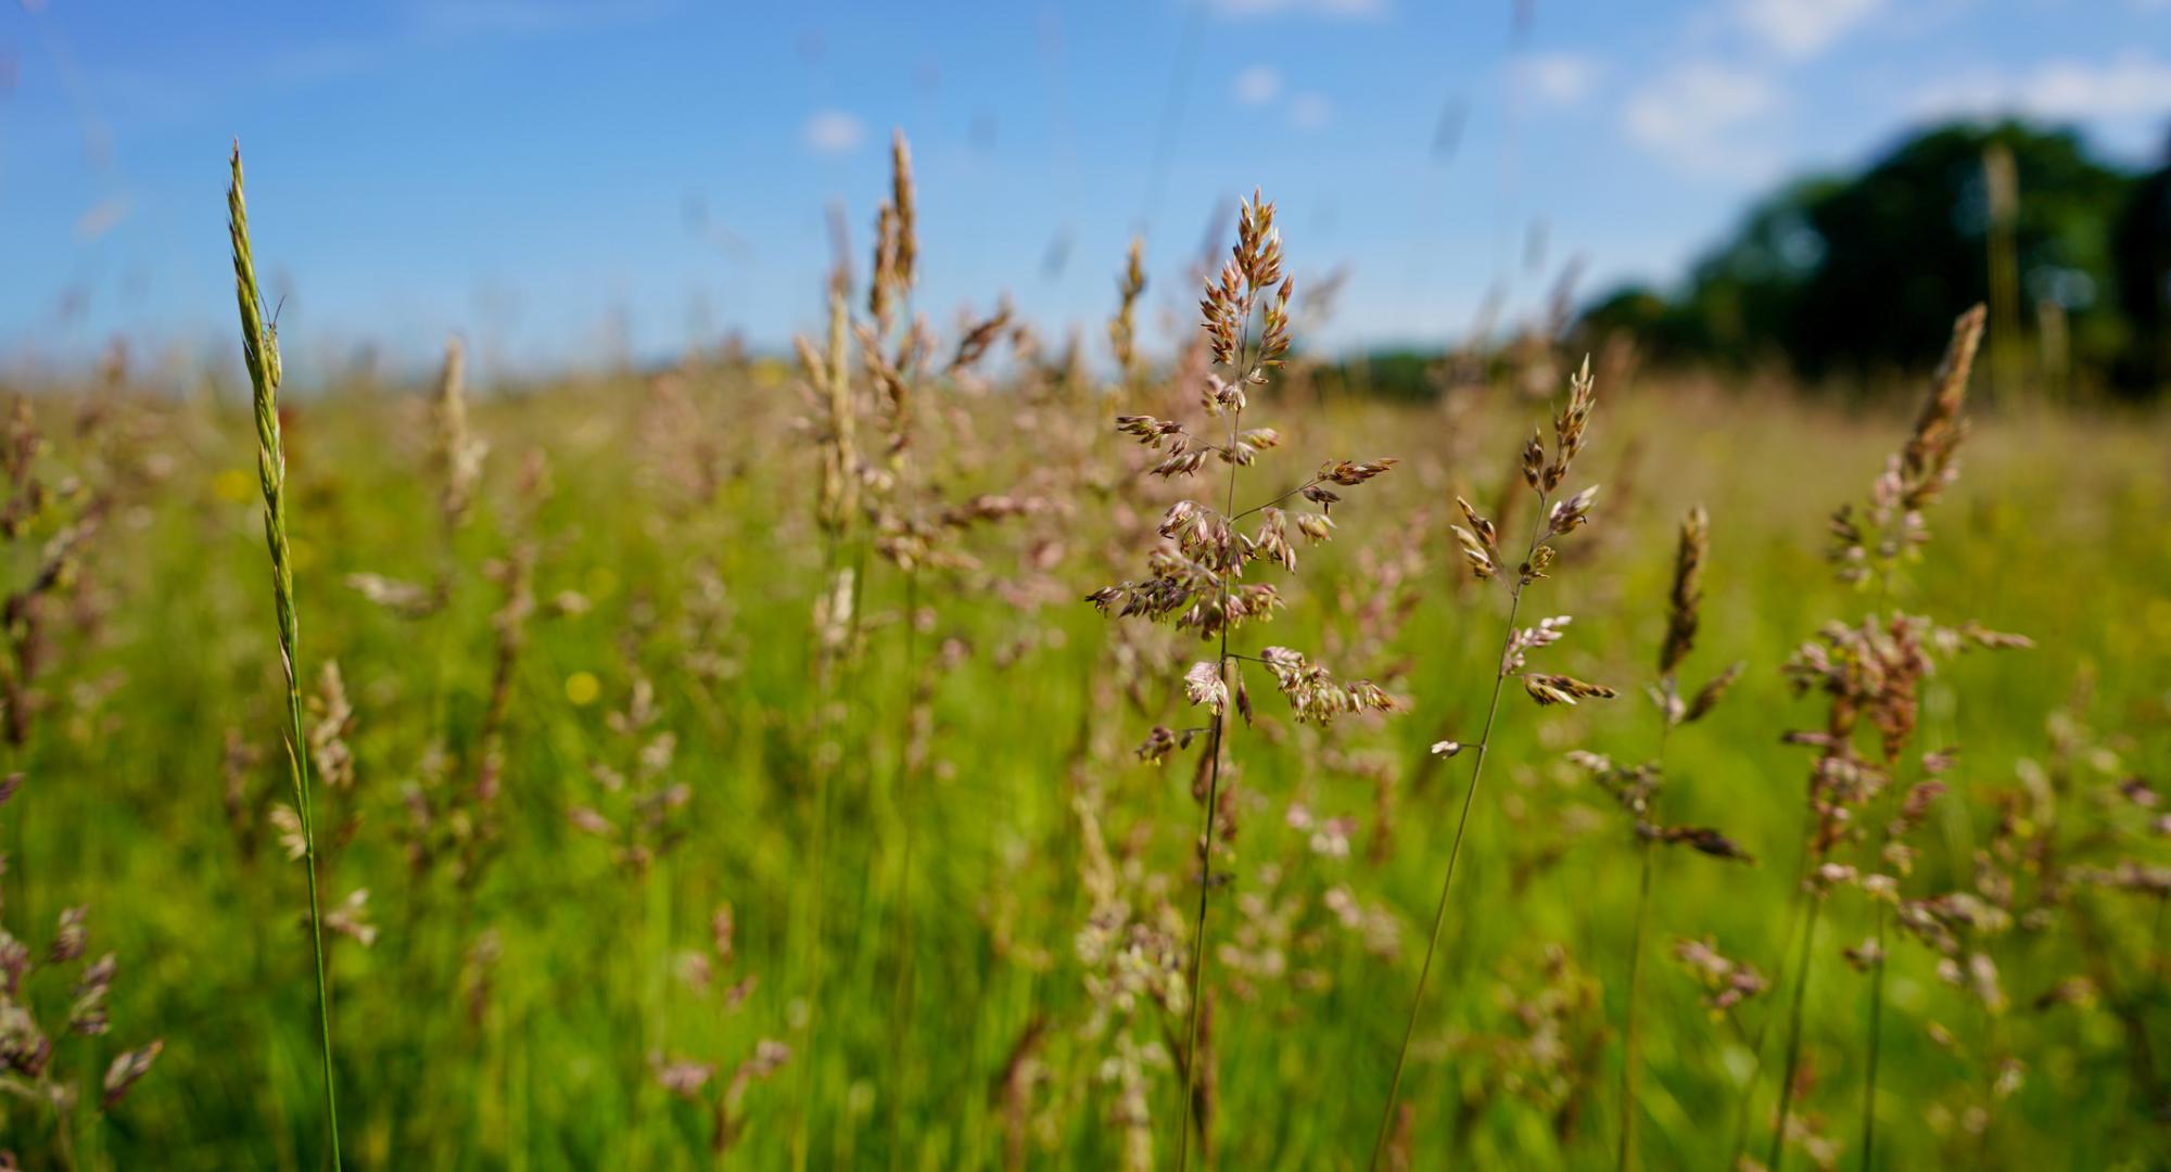
M747 1092L734 1159L784 1165L799 1146L812 1165L1001 1163L1003 1098L990 1083L1040 1020L1049 1024L1027 1161L1118 1161L1114 1087L1101 1081L1109 1040L1081 1029L1090 998L1072 938L1088 905L1070 792L1090 773L1105 790L1103 831L1118 855L1170 879L1196 833L1196 805L1183 766L1094 751L1090 679L1107 671L1107 623L1077 599L1125 571L1099 556L1109 525L1101 501L1081 493L1059 514L1027 521L1027 534L975 538L986 577L1018 586L1014 597L973 588L923 597L938 614L923 651L938 640L957 649L934 675L931 768L910 792L897 786L903 632L884 621L903 601L894 575L871 573L866 653L842 686L845 753L827 794L812 794L810 753L821 740L805 723L816 705L810 606L823 569L810 536L812 449L801 458L790 447L788 393L764 382L773 380L721 362L482 404L475 428L493 456L478 527L460 538L449 608L426 619L395 616L341 584L360 571L430 579L439 569L421 402L350 391L291 410L304 679L337 658L356 710L347 736L356 784L319 803L326 899L337 905L367 888L380 929L371 946L334 938L332 957L356 1163L701 1163L710 1118L658 1087L649 1055L729 1070L762 1037L788 1044L792 1059ZM1646 382L1600 395L1583 467L1607 482L1611 508L1533 603L1537 614L1576 614L1557 662L1624 690L1652 673L1672 525L1704 501L1713 553L1691 677L1732 658L1750 664L1715 716L1674 738L1667 803L1674 818L1726 827L1761 864L1661 855L1648 981L1646 1159L1717 1165L1730 1152L1732 1087L1750 1059L1665 948L1713 935L1728 955L1778 974L1808 768L1778 734L1817 718L1813 701L1787 695L1778 664L1824 619L1865 608L1826 573L1821 519L1861 495L1906 419ZM4 814L7 912L35 946L39 925L89 905L93 953L122 957L115 1029L165 1035L167 1050L106 1126L82 1126L76 1159L315 1165L297 868L265 825L284 781L250 432L217 399L91 402L102 421L85 432L63 404L43 412L52 464L111 484L113 499L78 595L52 623L37 734L13 751L11 768L28 781ZM1029 475L1059 430L1090 434L1101 423L1090 397L964 395L944 410L970 419L979 438L929 460L957 460L960 477L986 484ZM1281 701L1261 699L1261 731L1233 740L1237 881L1216 905L1214 931L1272 959L1214 966L1227 981L1214 1020L1224 1165L1357 1163L1353 1144L1385 1094L1461 790L1461 773L1431 768L1424 747L1470 736L1498 632L1496 599L1463 588L1450 564L1444 504L1472 482L1494 484L1515 434L1539 412L1541 404L1507 393L1459 412L1322 408L1296 395L1255 412L1303 451L1405 460L1337 510L1340 538L1309 553L1287 614L1261 638L1326 642L1324 627L1348 623L1329 606L1335 593L1361 586L1363 551L1405 540L1413 514L1429 517L1418 530L1429 566L1394 642L1409 662L1407 716L1337 727L1318 744L1292 738ZM658 428L660 419L675 428ZM1904 603L2026 632L2036 649L1960 658L1924 699L1926 747L1963 747L1952 777L1960 801L1937 823L1926 888L1967 883L1995 818L1989 794L2013 788L2023 762L2049 760L2045 714L2084 679L2093 690L2078 716L2106 729L2119 768L2160 775L2167 764L2167 438L2158 412L2015 408L1984 419L1971 441L1956 493L1932 517L1928 558L1906 575ZM1109 469L1135 460L1114 436L1094 443L1092 460ZM521 499L512 477L528 449L547 454L556 484L541 504ZM714 460L714 491L675 477L686 451ZM1472 458L1450 464L1450 451ZM530 506L534 521L523 519ZM1020 566L1020 549L1040 534L1068 553L1053 566ZM497 608L480 571L523 536L538 543L545 606L512 684L502 853L467 886L406 862L404 790L458 786L458 762L478 749ZM1042 579L1049 588L1036 595ZM721 606L708 582L723 584ZM588 606L554 608L567 590ZM653 727L675 734L666 779L690 790L666 823L675 842L647 870L619 866L610 846L569 825L573 807L604 807L608 797L591 764L634 770L647 744L608 721L636 681L653 686ZM1175 675L1164 686L1175 692ZM1635 695L1572 712L1511 703L1496 740L1500 786L1472 831L1407 1090L1420 1165L1450 1150L1483 1163L1598 1163L1611 1159L1617 1126L1609 1022L1620 1020L1635 855L1602 794L1565 770L1561 753L1587 747L1643 760L1656 721ZM1122 744L1148 723L1116 714ZM254 751L237 766L232 812L219 799L228 736ZM449 781L432 781L432 753L456 764ZM1353 766L1361 757L1394 777L1383 859L1368 851L1376 794ZM810 849L816 797L827 801L827 840ZM1292 827L1292 805L1318 820L1350 816L1348 857L1318 853L1313 836ZM2075 799L2075 842L2097 816ZM903 896L907 833L916 849ZM1353 892L1366 916L1376 909L1392 940L1370 946L1368 931L1344 927L1329 892ZM1181 883L1166 896L1181 905ZM903 1016L892 1011L899 899L912 901ZM2145 990L2134 994L2145 1022L2160 1024L2158 905L2106 892L2075 899L2099 920L2099 951ZM723 903L736 918L729 964L710 946L710 916ZM808 940L814 922L821 938ZM1837 946L1861 935L1867 912L1834 905L1808 1007L1815 1090L1804 1103L1839 1135L1850 1133L1858 1096L1863 985ZM1548 948L1565 959L1548 964ZM2084 968L2071 933L2017 933L2004 948L2015 1007L1989 1020L1934 977L1926 951L1895 944L1882 1072L1893 1165L2164 1159L2117 1020L2102 1007L2030 1007ZM710 953L719 970L710 992L686 979L688 953ZM716 988L742 977L758 983L727 1009ZM1520 1014L1541 1003L1561 1005L1559 1035L1533 1042L1550 1018ZM1767 1009L1754 1003L1748 1020ZM1958 1046L1932 1044L1932 1022ZM1963 1116L1982 1098L1976 1053L1986 1031L2028 1066L2021 1087L1997 1103L1991 1133L1976 1135ZM61 1042L78 1077L100 1068L87 1061L104 1053L96 1042ZM1769 1083L1767 1074L1765 1098ZM1155 1111L1172 1109L1166 1092L1164 1070ZM1168 1131L1161 1118L1164 1144ZM37 1159L50 1144L35 1113L11 1109L9 1146Z

